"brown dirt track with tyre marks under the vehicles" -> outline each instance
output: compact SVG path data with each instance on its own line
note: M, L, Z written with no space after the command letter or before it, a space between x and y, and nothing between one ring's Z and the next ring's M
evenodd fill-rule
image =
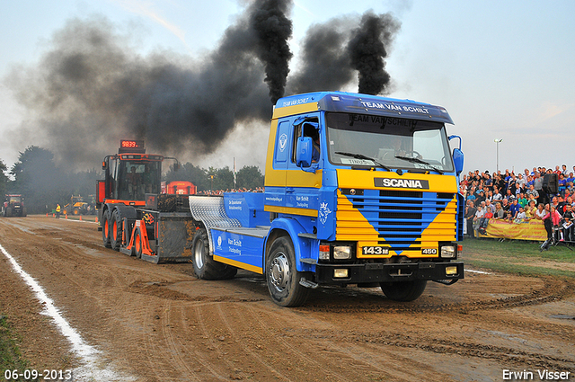
M379 289L316 289L289 309L252 273L197 280L190 264L155 265L101 243L86 221L0 218L0 244L118 380L500 381L504 369L575 380L573 281L466 272L413 303ZM0 290L31 367L81 366L2 253Z

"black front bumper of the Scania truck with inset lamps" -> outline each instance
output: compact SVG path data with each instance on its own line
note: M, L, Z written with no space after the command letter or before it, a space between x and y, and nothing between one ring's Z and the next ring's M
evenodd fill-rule
M347 277L345 276L347 270ZM340 277L337 277L340 276ZM370 262L365 264L315 264L315 281L345 285L411 280L452 281L464 278L463 262Z

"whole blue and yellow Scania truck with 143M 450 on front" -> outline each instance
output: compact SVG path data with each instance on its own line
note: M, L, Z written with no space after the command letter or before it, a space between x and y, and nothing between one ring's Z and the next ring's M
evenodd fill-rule
M263 193L190 196L199 279L265 275L279 306L324 285L397 301L464 278L461 139L446 109L342 92L280 99ZM459 147L450 140L459 138Z

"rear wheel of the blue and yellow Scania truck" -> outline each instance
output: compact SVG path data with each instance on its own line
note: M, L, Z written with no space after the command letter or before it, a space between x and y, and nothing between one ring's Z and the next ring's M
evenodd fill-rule
M201 228L194 235L191 242L191 253L193 255L193 267L196 277L200 280L226 280L233 279L237 273L237 268L216 262L209 255L208 231Z

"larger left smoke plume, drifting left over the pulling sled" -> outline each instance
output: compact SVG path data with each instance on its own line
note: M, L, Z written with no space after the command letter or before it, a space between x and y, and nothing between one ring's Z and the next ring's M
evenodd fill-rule
M13 69L5 82L37 116L28 122L34 137L66 165L93 167L120 138L145 138L166 154L209 153L237 123L270 120L270 96L283 95L291 57L288 4L252 4L198 62L142 57L107 20L73 20L37 68Z

